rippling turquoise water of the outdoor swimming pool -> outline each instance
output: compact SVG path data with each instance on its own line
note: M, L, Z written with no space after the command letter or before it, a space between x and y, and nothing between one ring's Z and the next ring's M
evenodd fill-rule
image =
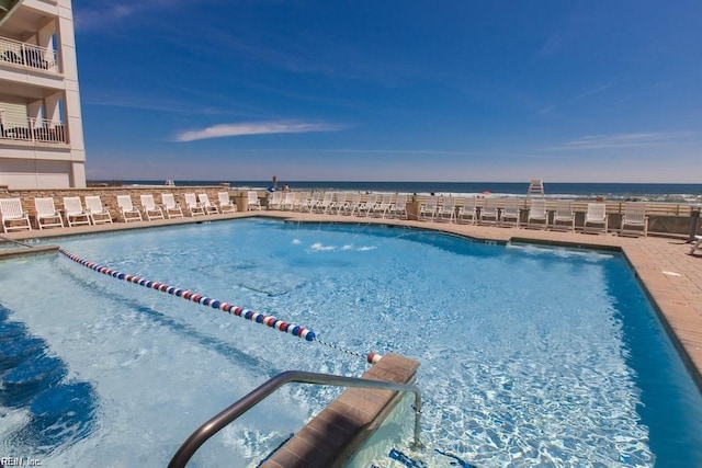
M344 350L417 358L428 449L414 454L407 436L386 454L428 466L454 460L434 450L480 467L702 464L700 392L616 254L273 220L55 242L308 327ZM50 398L0 409L2 454L45 466L163 466L202 422L280 372L358 376L367 366L63 255L2 262L0 282L5 323L43 343L65 370L63 391L86 403L45 426L31 415ZM192 466L256 466L338 392L284 388ZM405 425L409 434L411 418Z

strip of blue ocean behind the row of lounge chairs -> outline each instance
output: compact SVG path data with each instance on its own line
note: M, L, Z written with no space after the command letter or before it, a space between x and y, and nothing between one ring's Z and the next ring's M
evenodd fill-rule
M177 186L219 185L233 190L268 190L271 181L174 181ZM110 183L107 181L107 183ZM163 185L165 181L122 181L125 185ZM348 181L278 181L278 189L287 185L293 191L336 191L409 193L453 196L525 196L530 182L348 182ZM544 182L548 198L642 201L702 205L700 184L582 183Z

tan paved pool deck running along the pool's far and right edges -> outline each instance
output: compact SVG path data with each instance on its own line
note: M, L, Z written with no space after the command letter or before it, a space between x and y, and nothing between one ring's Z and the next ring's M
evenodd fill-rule
M634 238L620 237L613 233L590 235L514 227L456 225L455 222L450 224L445 221L399 220L274 210L210 215L206 217L200 216L196 218L178 218L172 220L55 228L42 231L13 232L4 235L4 237L15 240L52 238L251 216L265 216L296 222L383 224L451 232L478 241L497 241L499 243L531 242L569 248L621 251L641 281L656 311L661 317L663 323L670 332L672 341L678 347L691 376L698 384L698 387L702 389L702 251L690 254L691 244L682 238L650 236L647 238ZM42 248L47 249L45 242L42 242ZM12 251L0 250L0 260L11 255ZM319 448L324 449L324 447Z

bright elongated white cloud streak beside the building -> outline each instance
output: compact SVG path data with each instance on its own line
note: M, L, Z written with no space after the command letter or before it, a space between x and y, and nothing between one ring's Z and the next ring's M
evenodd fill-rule
M259 122L219 124L212 127L181 132L176 141L195 141L207 138L241 137L246 135L306 134L312 132L338 132L343 125L310 122Z

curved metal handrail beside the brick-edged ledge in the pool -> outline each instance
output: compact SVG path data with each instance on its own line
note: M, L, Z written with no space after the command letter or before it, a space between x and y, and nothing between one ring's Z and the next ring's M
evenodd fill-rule
M241 414L253 408L261 402L264 398L271 395L285 384L298 383L298 384L318 384L318 385L332 385L337 387L362 387L362 388L377 388L383 390L395 391L411 391L415 393L415 446L421 447L419 441L420 432L420 414L421 414L421 392L419 387L410 384L397 384L386 380L370 380L358 377L344 377L329 374L307 373L303 370L287 370L276 375L263 385L259 386L248 395L244 396L239 401L231 404L229 408L222 411L219 414L212 418L210 421L201 425L190 437L183 442L173 458L171 458L169 468L184 467L195 452L207 442L210 437L215 435L222 429L230 424L234 420Z

